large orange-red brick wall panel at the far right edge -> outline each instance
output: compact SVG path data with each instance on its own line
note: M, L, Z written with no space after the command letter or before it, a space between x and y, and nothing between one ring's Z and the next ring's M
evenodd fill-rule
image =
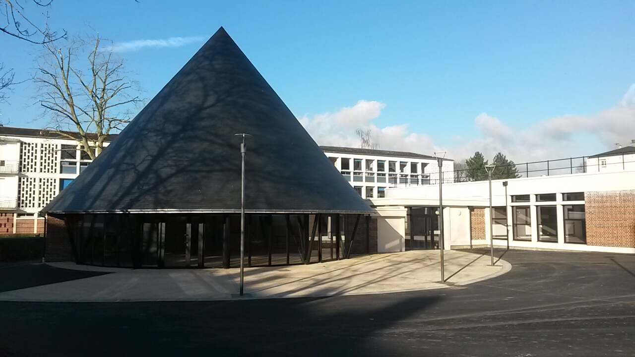
M587 245L635 248L635 190L585 192Z

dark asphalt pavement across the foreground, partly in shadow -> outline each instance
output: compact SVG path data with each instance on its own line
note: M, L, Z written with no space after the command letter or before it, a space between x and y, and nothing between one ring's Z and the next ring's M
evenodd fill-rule
M635 256L497 250L512 270L419 292L0 302L9 356L634 356Z

